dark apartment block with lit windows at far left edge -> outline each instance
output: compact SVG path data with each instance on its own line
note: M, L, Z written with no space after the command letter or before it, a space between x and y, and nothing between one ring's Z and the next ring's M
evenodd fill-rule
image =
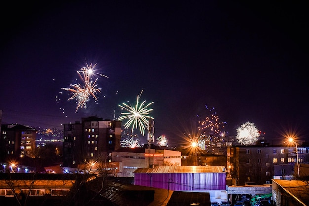
M34 157L37 130L26 125L1 125L1 157Z

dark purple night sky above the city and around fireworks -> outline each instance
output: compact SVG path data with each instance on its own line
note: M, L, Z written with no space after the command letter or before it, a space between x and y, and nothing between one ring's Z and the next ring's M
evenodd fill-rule
M141 99L154 101L155 137L177 141L214 107L231 135L250 121L266 137L291 129L304 139L307 10L305 3L260 1L7 3L2 123L61 128L91 115L113 119L118 104L134 103L143 90ZM77 104L61 88L75 82L86 62L109 78L98 79L99 101L90 99L76 114Z

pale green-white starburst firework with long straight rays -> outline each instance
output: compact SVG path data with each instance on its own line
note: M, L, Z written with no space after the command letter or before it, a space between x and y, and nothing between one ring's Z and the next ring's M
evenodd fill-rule
M129 106L126 103L122 103L122 105L118 105L121 107L121 109L126 110L127 112L121 113L121 117L118 118L119 121L121 120L127 120L127 122L124 124L124 129L127 129L129 127L132 127L131 133L133 133L134 129L139 128L141 134L145 135L145 129L147 127L149 119L154 119L149 115L149 112L151 112L153 109L148 109L148 107L154 103L151 102L145 106L146 101L144 100L142 103L140 103L140 97L142 95L143 90L141 91L140 95L137 95L137 101L135 106Z

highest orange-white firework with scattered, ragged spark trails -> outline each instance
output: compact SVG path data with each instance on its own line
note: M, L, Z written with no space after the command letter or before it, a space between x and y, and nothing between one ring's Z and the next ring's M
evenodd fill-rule
M91 81L92 74L99 74L94 72L94 67L96 64L94 66L92 66L92 64L86 65L87 67L83 67L80 69L80 71L77 71L77 74L84 83L83 86L81 84L70 84L70 87L72 88L62 88L63 90L72 92L72 96L68 100L77 100L78 103L75 112L77 112L78 108L86 108L87 101L89 100L90 96L92 96L97 101L98 99L95 94L101 90L101 88L96 88L98 86L96 84L98 79L96 79L94 82ZM107 77L103 74L99 75Z

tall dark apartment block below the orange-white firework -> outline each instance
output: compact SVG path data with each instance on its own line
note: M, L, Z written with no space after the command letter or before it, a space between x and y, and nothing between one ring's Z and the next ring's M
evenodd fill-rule
M82 118L81 123L64 124L63 133L63 166L77 168L85 160L109 161L120 148L121 121Z

